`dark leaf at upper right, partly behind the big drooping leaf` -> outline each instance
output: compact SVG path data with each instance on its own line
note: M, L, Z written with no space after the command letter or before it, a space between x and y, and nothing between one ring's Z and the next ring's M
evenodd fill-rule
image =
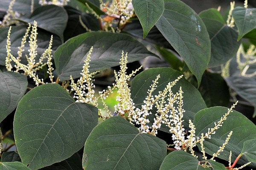
M224 64L236 55L241 41L237 42L238 33L228 27L223 17L215 8L199 14L211 40L211 58L208 67Z

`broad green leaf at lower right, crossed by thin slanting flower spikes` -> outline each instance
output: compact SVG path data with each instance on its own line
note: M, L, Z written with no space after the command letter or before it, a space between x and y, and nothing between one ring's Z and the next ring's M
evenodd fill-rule
M194 118L196 136L201 136L201 133L207 133L208 128L213 128L214 122L218 122L223 115L227 113L227 108L212 107L199 111ZM211 139L204 141L205 152L212 155L219 150L219 147L224 144L227 135L233 131L232 136L226 144L223 152L218 155L219 158L229 160L230 150L232 151L232 160L234 161L242 151L244 142L256 138L256 126L243 114L233 111L224 120L222 126L216 130L215 134L211 135ZM241 157L239 164L247 163L247 159ZM256 167L255 163L250 166Z

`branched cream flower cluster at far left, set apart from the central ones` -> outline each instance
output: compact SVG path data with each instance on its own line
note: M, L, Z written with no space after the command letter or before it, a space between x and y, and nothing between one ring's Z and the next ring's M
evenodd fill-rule
M32 27L32 31L29 36L29 30ZM10 36L11 36L11 29L12 27L10 26L9 31L8 31L8 36L7 36L7 45L6 45L6 52L7 52L7 57L6 57L6 68L7 71L12 71L12 64L11 62L15 62L15 72L18 71L23 71L23 74L29 76L35 81L35 84L38 86L39 84L45 84L44 79L39 79L38 75L36 72L43 68L45 65L48 65L48 71L47 73L49 74L50 81L53 83L53 75L52 75L52 36L51 40L49 42L49 47L44 51L44 53L41 55L39 58L38 62L35 62L35 59L37 57L37 22L34 21L34 25L31 26L29 24L29 27L26 30L25 35L23 36L23 39L21 41L20 47L18 47L19 51L17 52L17 57L14 57L11 54L11 41L10 41ZM22 64L20 61L22 57L22 52L24 51L24 46L26 43L26 38L29 36L29 57L26 55L26 60L27 60L27 65ZM44 62L44 59L47 59L47 62Z

